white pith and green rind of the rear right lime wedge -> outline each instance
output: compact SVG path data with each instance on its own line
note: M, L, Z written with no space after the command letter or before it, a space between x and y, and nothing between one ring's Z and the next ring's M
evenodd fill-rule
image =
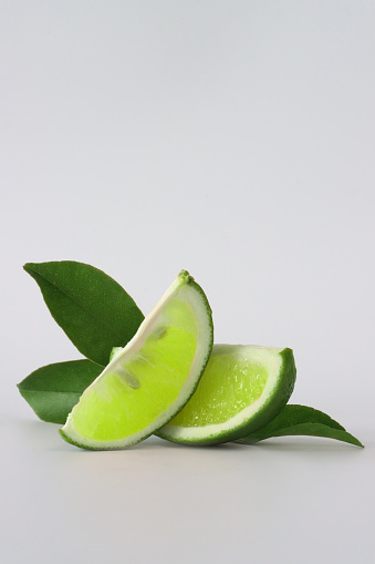
M249 350L253 355L257 349L267 353L270 373L261 396L256 401L221 423L183 427L171 422L156 434L184 444L216 444L246 437L271 421L287 404L294 388L296 370L293 351L288 348L216 345L212 355L242 352L246 356Z

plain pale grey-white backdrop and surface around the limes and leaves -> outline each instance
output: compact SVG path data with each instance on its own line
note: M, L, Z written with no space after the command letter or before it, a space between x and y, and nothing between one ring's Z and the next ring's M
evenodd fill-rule
M0 0L0 546L39 562L374 562L375 4ZM324 439L84 452L15 383L79 358L25 262L144 312L181 268L217 342L291 347Z

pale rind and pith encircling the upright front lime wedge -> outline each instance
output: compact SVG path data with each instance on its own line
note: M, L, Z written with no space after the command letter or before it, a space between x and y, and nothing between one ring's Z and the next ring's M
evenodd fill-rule
M168 305L168 302L176 298L181 299L188 304L191 310L195 312L197 320L197 346L188 376L180 387L179 393L175 401L173 401L173 403L168 406L167 409L164 409L160 414L156 417L155 420L146 428L140 429L138 432L134 432L131 435L126 435L123 439L93 440L92 438L83 437L83 434L79 432L74 425L75 413L77 412L76 410L80 409L82 398L87 397L87 394L90 394L93 390L95 392L95 388L97 387L98 381L103 381L107 375L114 372L116 370L116 366L118 366L118 363L121 363L125 358L132 358L133 355L137 353L137 351L146 341L147 337L153 332L155 327L157 327L158 320L160 317L163 317L164 308ZM143 321L133 339L122 351L118 351L118 349L116 350L116 355L113 355L110 365L84 391L79 404L73 408L72 412L67 417L65 425L60 430L62 438L71 444L88 450L124 449L146 439L157 429L170 421L190 399L198 386L201 375L205 371L210 357L212 343L213 324L211 317L211 308L208 304L207 297L200 286L194 281L194 278L186 270L183 270L168 288L166 294L156 304L152 312Z

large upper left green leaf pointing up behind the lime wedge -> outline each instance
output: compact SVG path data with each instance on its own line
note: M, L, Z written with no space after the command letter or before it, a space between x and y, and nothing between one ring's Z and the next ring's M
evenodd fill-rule
M23 267L42 290L54 320L80 352L98 365L113 347L124 347L144 319L124 288L83 263L28 263Z

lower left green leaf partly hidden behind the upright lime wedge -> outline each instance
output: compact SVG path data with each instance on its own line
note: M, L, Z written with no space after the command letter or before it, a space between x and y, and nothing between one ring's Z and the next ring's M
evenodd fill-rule
M71 360L44 366L18 384L37 416L49 423L65 423L81 394L103 371L91 360Z

